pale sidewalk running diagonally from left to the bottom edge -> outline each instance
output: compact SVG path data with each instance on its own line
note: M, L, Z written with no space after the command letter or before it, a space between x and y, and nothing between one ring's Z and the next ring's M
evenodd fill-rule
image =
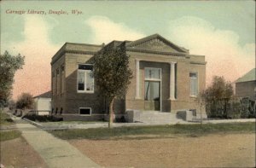
M14 119L22 136L44 159L49 168L100 167L68 142L52 136L20 118ZM28 158L29 159L29 158Z

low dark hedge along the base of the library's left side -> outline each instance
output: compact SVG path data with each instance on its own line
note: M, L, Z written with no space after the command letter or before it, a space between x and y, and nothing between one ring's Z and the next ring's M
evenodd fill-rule
M52 115L36 115L36 114L28 114L25 115L24 118L30 119L32 121L38 121L38 122L58 122L63 121L62 118L57 118Z

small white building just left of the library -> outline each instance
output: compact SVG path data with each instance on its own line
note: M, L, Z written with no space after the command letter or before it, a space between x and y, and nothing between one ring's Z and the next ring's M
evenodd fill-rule
M34 108L32 111L38 115L48 115L51 112L51 91L34 96Z

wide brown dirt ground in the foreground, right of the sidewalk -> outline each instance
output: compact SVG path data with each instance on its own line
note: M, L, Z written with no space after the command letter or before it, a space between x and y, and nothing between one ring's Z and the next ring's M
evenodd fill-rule
M255 134L70 143L107 167L255 167Z

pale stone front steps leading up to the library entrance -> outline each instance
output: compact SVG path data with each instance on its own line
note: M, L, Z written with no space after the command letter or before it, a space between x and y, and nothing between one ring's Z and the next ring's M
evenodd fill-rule
M176 113L157 112L157 111L137 111L127 112L128 122L147 123L147 124L173 124L183 122L183 119L177 119Z

